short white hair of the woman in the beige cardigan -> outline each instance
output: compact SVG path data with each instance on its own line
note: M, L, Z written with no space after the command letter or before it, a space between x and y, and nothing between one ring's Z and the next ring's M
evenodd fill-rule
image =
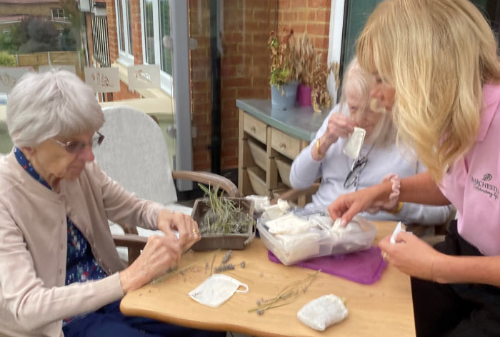
M28 73L7 101L7 129L16 146L98 131L104 114L92 89L69 71Z

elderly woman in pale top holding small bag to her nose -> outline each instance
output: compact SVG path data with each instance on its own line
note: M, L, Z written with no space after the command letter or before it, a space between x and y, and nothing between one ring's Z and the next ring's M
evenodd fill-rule
M293 188L308 188L321 178L312 203L306 207L329 205L338 196L376 185L383 178L391 178L396 185L399 178L426 171L411 154L401 156L390 114L372 111L369 94L373 85L374 76L364 74L356 59L351 61L340 103L294 160L290 172ZM355 126L364 129L366 136L358 159L351 159L343 150ZM386 203L361 215L370 220L436 225L444 223L451 211L449 206Z

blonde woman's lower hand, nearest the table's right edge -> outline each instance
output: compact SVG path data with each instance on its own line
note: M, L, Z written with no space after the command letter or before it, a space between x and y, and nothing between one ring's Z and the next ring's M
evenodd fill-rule
M443 255L442 253L411 233L399 233L394 244L389 240L390 236L387 236L379 242L382 252L386 253L386 261L409 276L436 281L433 264L436 257Z

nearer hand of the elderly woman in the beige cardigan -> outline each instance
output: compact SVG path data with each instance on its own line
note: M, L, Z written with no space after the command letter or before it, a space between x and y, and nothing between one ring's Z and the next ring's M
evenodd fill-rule
M119 273L124 293L140 288L173 268L181 258L179 239L171 231L165 236L149 236L141 255Z

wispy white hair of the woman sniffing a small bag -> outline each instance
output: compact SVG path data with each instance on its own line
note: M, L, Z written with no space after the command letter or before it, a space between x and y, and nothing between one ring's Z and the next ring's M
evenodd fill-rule
M348 89L354 90L358 97L360 106L359 114L361 118L371 110L370 92L374 86L374 76L363 71L358 64L356 57L349 62L344 74L344 81L342 83L341 96L339 101L339 111L349 115L347 107L347 91ZM380 112L373 111L374 114ZM376 146L389 146L395 141L394 124L390 114L381 114L379 121L377 121L371 135L366 139L366 144L376 144Z

